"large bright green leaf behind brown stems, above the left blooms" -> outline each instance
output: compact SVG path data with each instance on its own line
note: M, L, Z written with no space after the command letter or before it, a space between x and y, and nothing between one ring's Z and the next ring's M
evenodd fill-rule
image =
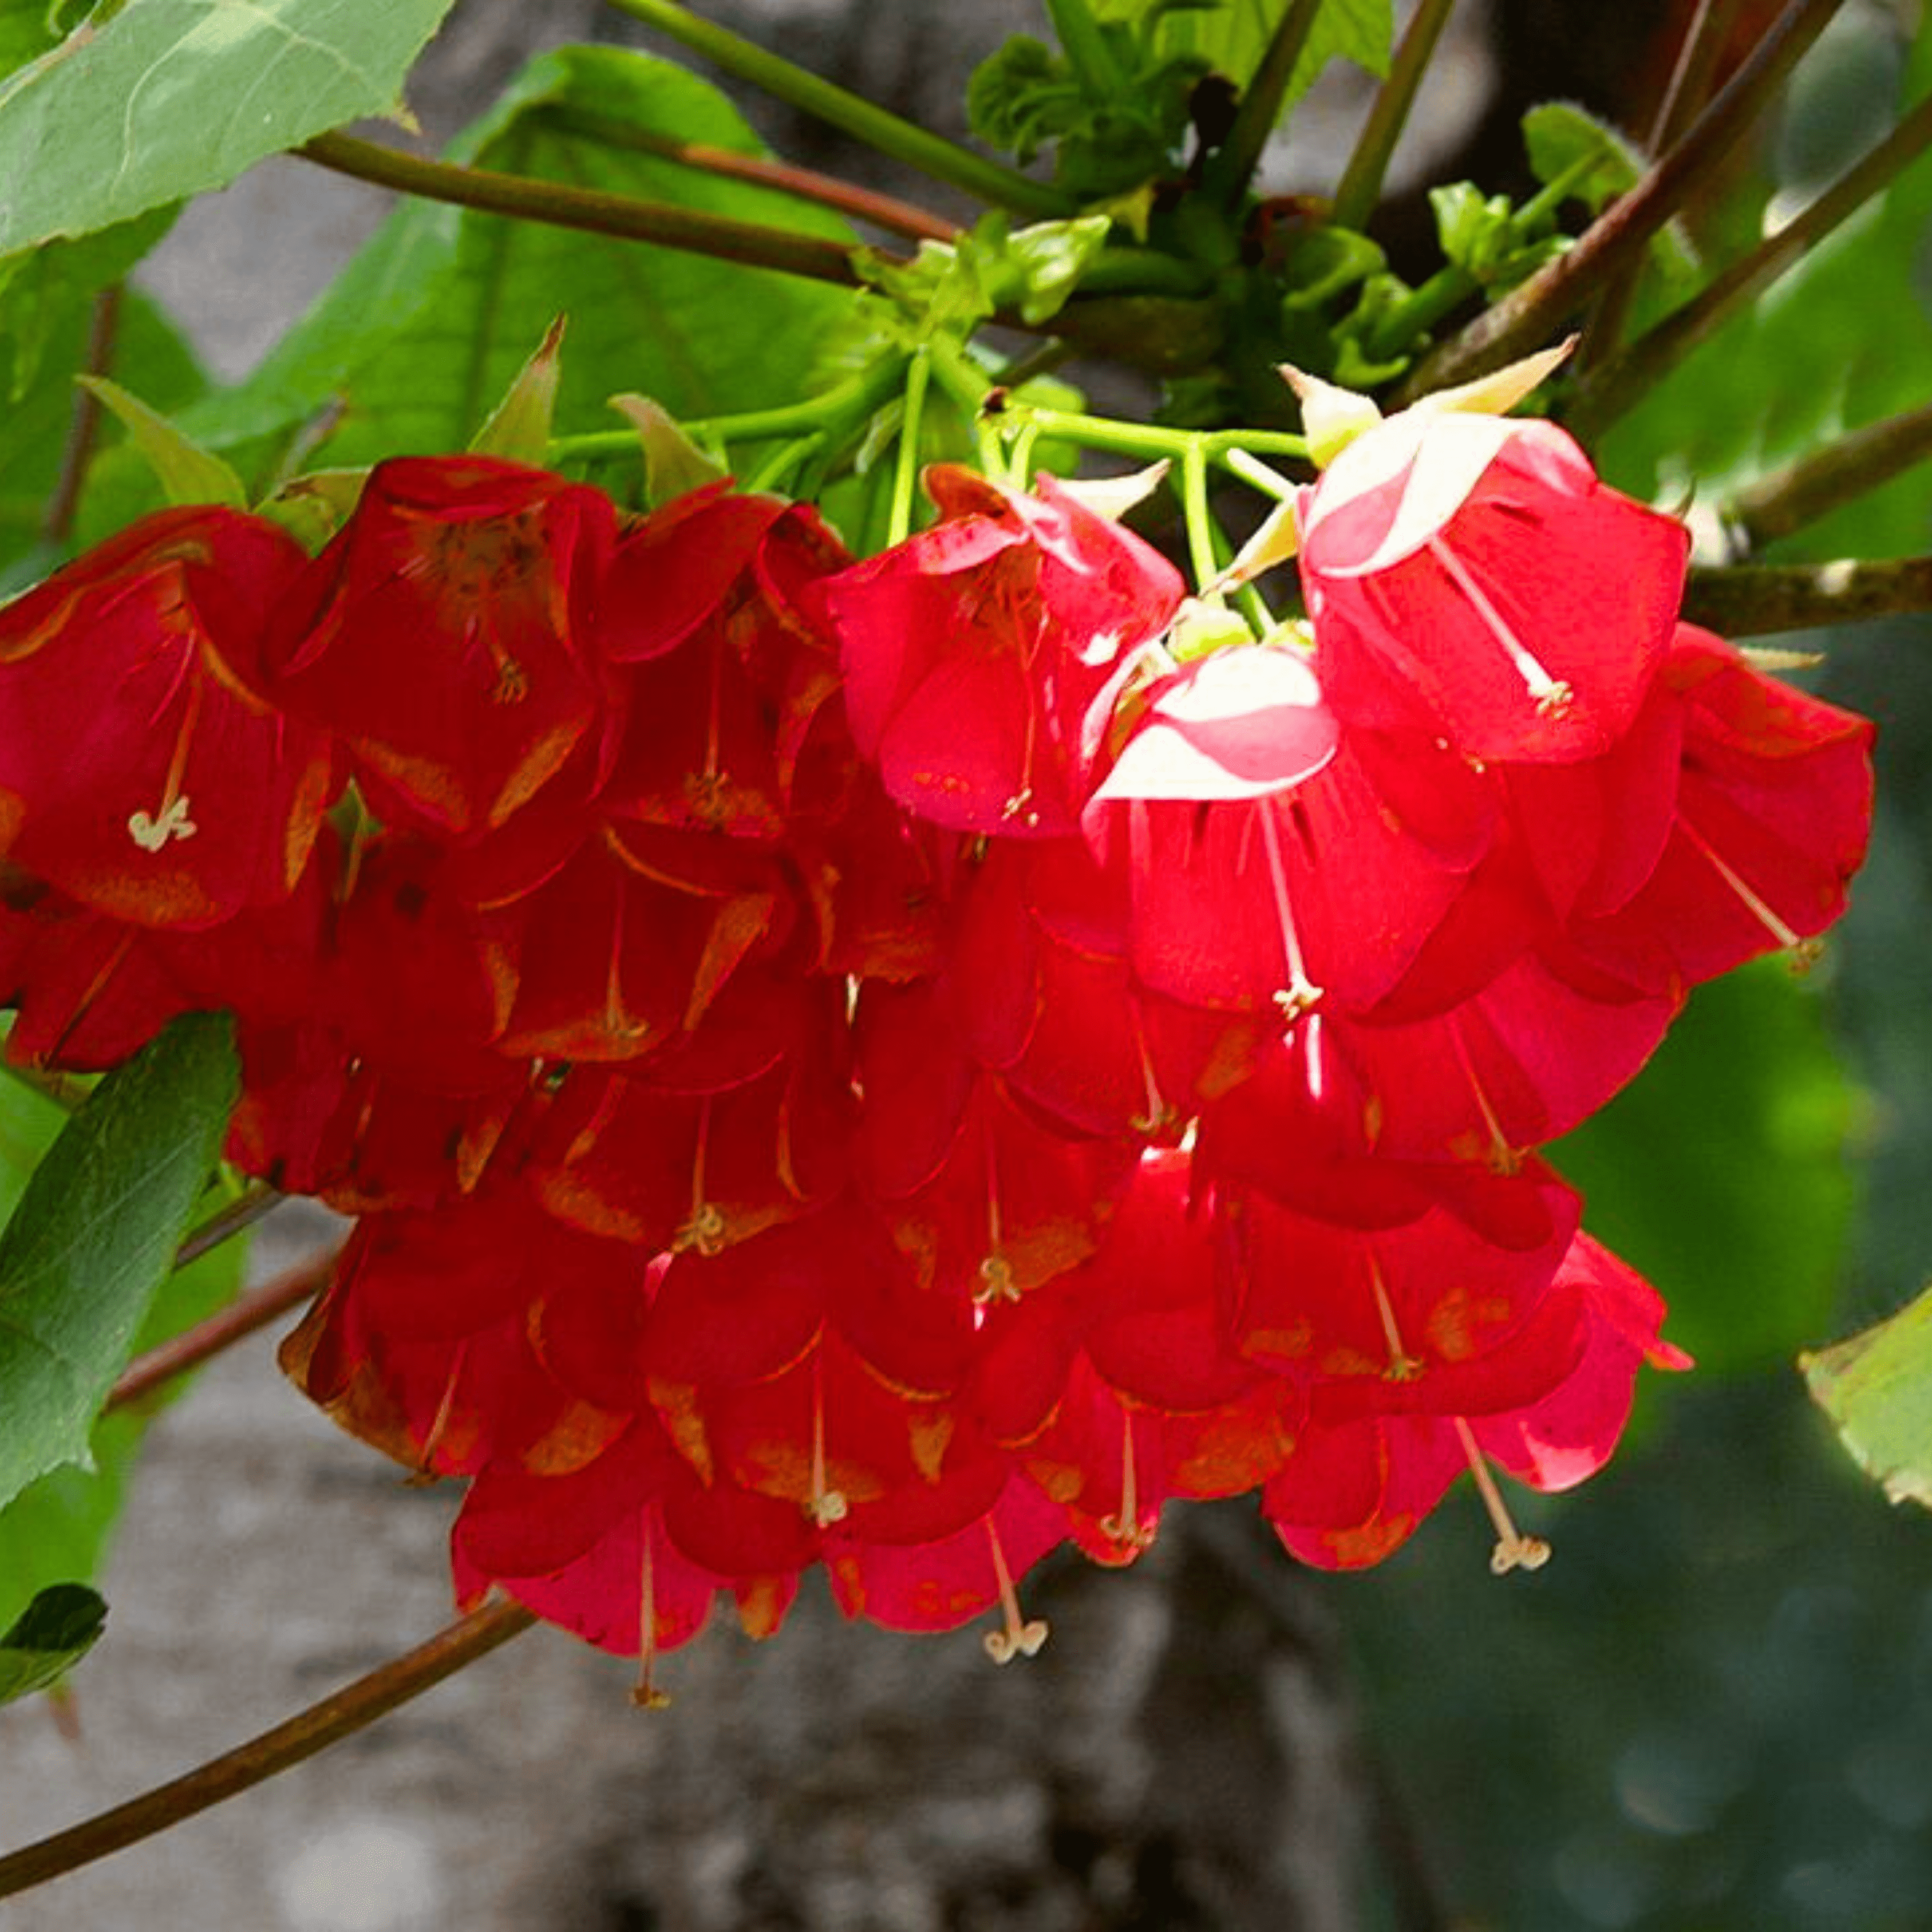
M759 153L715 89L645 54L572 46L531 62L454 158L850 240L831 214L618 145L639 128ZM222 448L342 404L327 462L468 444L564 313L556 431L614 427L641 390L680 415L802 394L852 298L734 263L535 222L406 207L238 392L189 431Z

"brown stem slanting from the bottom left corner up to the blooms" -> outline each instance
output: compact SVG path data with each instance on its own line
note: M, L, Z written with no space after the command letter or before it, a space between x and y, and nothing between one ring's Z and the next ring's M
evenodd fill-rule
M222 1799L232 1799L263 1779L274 1777L276 1772L286 1772L303 1758L313 1758L317 1750L354 1735L363 1725L396 1710L398 1704L421 1696L466 1663L489 1656L491 1650L527 1631L535 1621L522 1604L504 1602L485 1604L483 1609L458 1617L427 1644L419 1644L367 1677L357 1677L346 1689L325 1696L319 1704L311 1704L236 1750L211 1758L185 1777L156 1785L126 1804L116 1804L112 1810L0 1859L0 1899L10 1899L33 1886L44 1886L50 1878L62 1878L83 1864L93 1864L95 1859L137 1845L143 1837L153 1837L211 1804L220 1804Z

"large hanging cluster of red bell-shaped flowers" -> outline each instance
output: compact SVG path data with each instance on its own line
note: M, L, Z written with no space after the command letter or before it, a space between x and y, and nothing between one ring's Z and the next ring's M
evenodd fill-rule
M15 1059L232 1009L230 1155L359 1217L286 1347L597 1644L1016 1582L1246 1492L1296 1555L1611 1453L1658 1296L1534 1148L1841 910L1864 721L1677 622L1677 524L1410 412L1296 508L1312 647L941 468L852 562L381 464L315 558L135 526L0 612Z

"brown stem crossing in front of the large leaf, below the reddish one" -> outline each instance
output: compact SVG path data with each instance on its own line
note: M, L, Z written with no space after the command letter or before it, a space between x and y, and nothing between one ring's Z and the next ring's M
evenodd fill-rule
M858 286L850 249L837 242L821 242L817 236L767 228L761 222L730 220L724 214L703 214L697 209L638 201L630 195L607 195L593 187L566 187L562 182L533 182L489 168L421 160L340 131L319 133L296 153L336 174L394 187L404 195L421 195L425 201L450 201L489 214L512 214L554 228L583 228L626 242L684 249L690 255L715 255L753 269L777 269L782 274Z

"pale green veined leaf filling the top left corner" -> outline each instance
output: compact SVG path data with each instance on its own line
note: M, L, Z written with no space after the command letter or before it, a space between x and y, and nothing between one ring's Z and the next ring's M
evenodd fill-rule
M369 114L450 0L129 0L0 81L0 255L224 187Z

